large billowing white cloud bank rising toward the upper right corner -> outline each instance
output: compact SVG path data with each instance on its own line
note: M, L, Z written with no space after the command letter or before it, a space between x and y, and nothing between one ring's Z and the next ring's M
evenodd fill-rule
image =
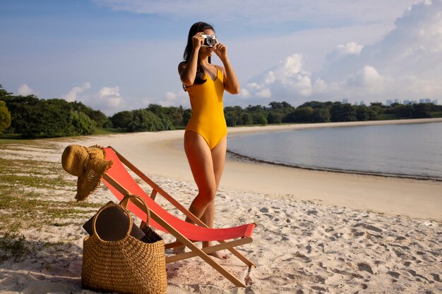
M349 40L335 46L323 67L305 68L308 52L292 54L251 78L243 98L262 103L310 100L440 98L442 90L442 1L415 4L374 44ZM271 95L261 91L270 89Z

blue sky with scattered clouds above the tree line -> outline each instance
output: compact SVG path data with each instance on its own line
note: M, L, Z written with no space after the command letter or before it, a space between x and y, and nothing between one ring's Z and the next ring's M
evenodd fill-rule
M107 115L189 107L177 65L200 20L241 83L225 106L442 102L442 0L2 0L0 85Z

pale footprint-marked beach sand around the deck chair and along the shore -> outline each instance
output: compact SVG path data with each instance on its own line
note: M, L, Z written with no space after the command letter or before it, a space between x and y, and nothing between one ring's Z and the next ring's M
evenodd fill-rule
M414 122L428 121L435 120ZM375 123L386 122L241 127L229 129L229 135ZM43 140L51 149L3 150L0 155L56 163L67 145L110 145L189 206L196 185L182 148L183 133ZM67 173L64 178L72 181L71 189L48 192L73 200L75 178ZM109 200L115 199L101 186L87 201ZM229 157L217 192L215 226L256 223L253 243L239 248L257 267L247 271L234 257L220 261L247 283L247 288L236 288L201 259L167 264L168 293L442 293L441 221L440 181L310 171ZM0 263L0 293L93 293L80 287L85 237L80 227L20 233L32 240L71 241L21 262Z

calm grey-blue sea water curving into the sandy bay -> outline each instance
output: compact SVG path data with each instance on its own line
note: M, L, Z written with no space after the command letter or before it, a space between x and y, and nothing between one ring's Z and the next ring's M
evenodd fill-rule
M227 149L250 159L299 168L442 180L442 123L232 135Z

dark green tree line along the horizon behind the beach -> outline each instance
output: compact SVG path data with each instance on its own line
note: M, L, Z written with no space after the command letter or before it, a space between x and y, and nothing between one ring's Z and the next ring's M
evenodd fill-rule
M434 118L442 117L442 106L429 103L356 106L313 101L294 107L287 102L270 102L268 106L226 106L224 112L227 125L236 126ZM191 109L158 104L106 116L81 102L39 99L34 95L16 96L0 85L0 135L66 137L92 135L97 128L117 128L121 132L174 130L185 128L190 118Z

